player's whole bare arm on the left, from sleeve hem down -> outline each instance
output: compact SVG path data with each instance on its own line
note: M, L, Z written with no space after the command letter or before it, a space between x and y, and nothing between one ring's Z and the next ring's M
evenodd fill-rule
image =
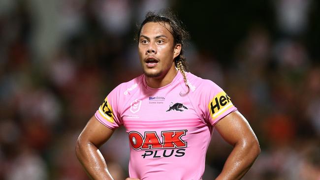
M98 150L112 135L113 130L102 125L93 116L81 132L76 142L75 152L93 180L113 180L107 169L107 164Z

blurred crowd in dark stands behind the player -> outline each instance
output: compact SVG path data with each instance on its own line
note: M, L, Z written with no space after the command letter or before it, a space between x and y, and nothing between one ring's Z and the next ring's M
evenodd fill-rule
M228 60L191 39L190 71L221 86L256 132L262 151L244 180L319 180L320 63L304 37L320 26L310 18L320 9L314 0L269 3L276 31L252 24ZM179 14L183 4L1 0L0 180L89 179L75 141L108 92L142 73L136 24L148 10ZM101 147L115 180L128 177L128 148L123 128ZM204 180L219 174L231 149L214 133Z

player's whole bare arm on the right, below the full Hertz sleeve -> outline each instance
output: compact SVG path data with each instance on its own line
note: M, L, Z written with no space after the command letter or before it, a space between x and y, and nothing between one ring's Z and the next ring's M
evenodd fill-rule
M233 146L216 180L240 180L260 153L256 135L248 121L239 112L230 113L215 127L224 140Z

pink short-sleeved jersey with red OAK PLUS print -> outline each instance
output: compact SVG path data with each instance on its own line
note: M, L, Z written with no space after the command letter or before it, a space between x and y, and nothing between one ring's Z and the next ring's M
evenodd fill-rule
M236 111L230 97L210 80L177 73L165 87L147 86L141 75L112 90L96 118L115 129L126 127L129 176L140 180L200 180L214 125Z

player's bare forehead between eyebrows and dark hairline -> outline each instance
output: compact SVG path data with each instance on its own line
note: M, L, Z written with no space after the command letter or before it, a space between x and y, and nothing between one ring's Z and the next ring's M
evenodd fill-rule
M173 37L169 30L171 30L171 27L168 23L149 22L143 25L140 35L153 37L162 34L168 38Z

